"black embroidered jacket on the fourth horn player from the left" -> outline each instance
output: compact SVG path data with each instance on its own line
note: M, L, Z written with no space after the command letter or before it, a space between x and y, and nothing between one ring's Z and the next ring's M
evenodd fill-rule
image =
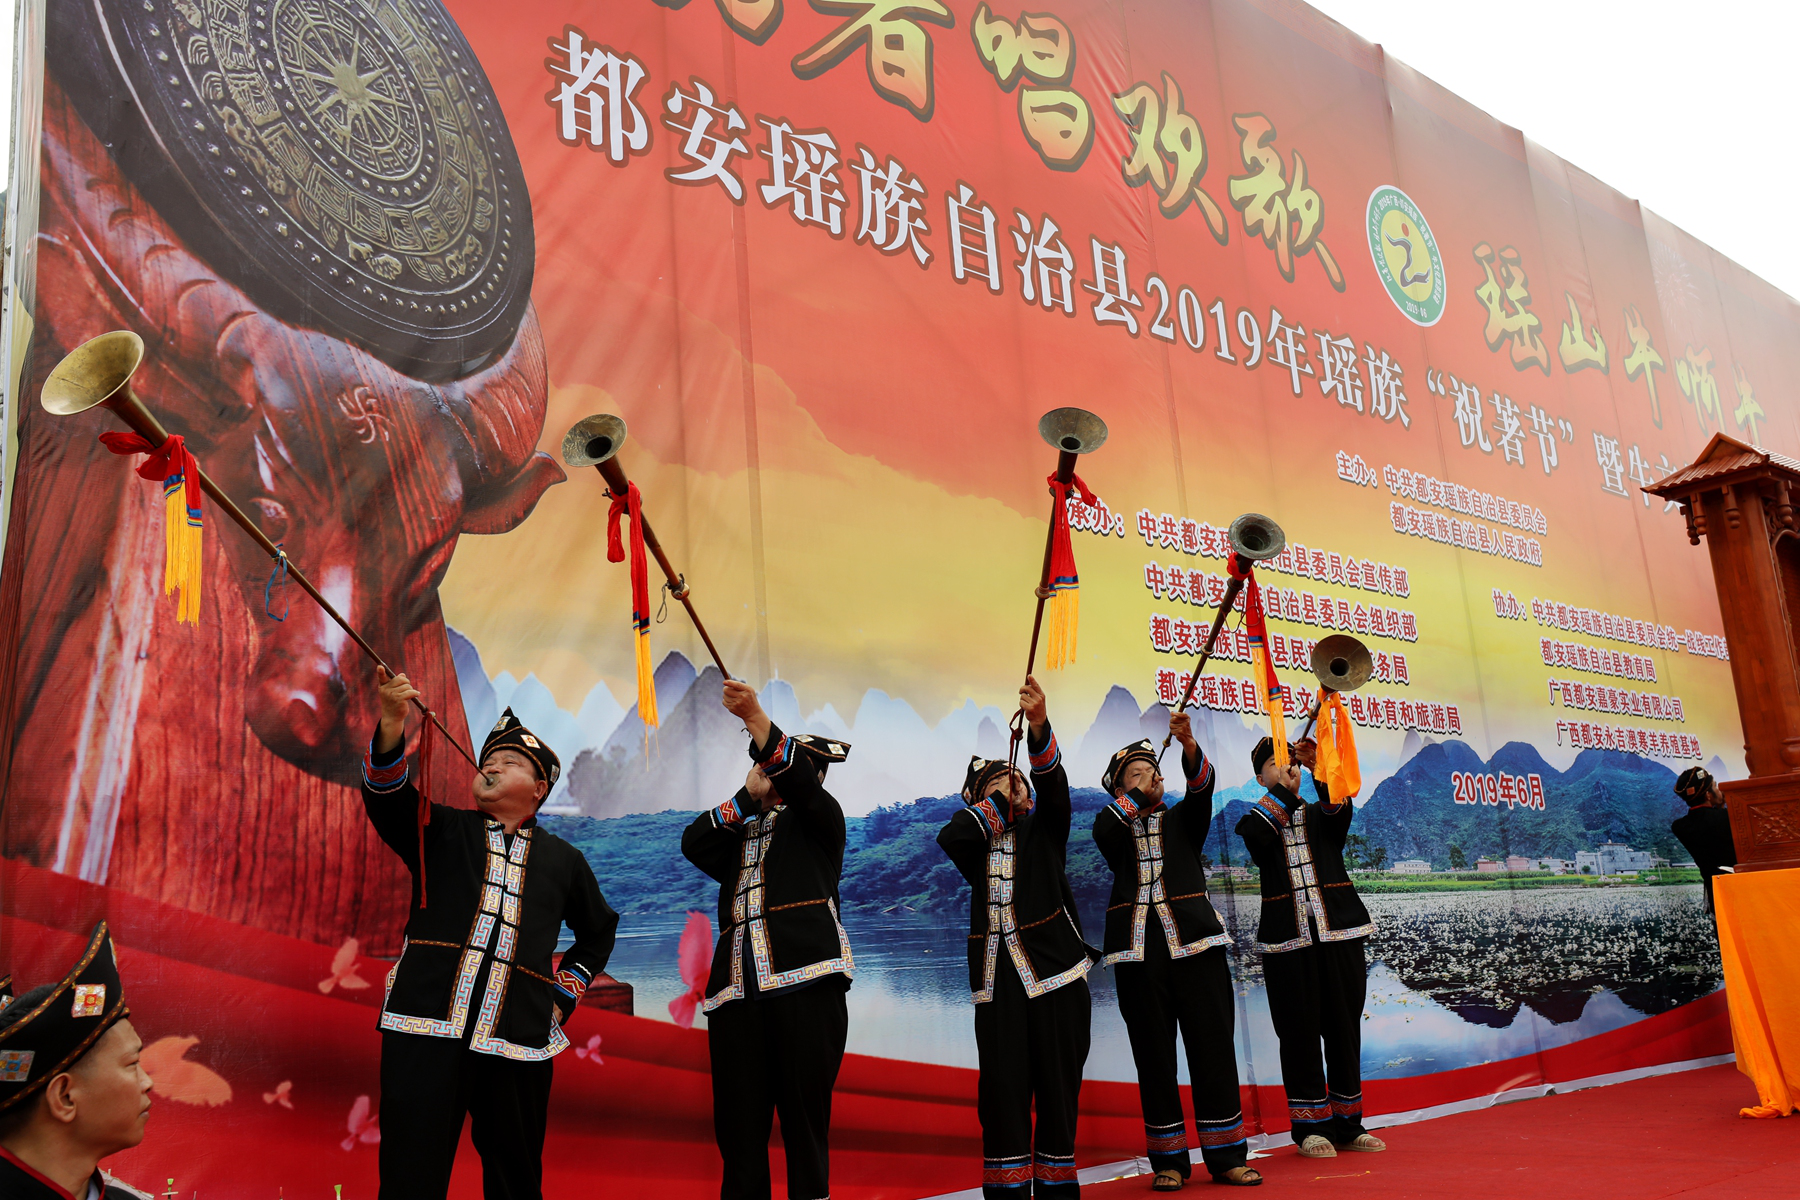
M1143 963L1143 939L1154 910L1163 925L1168 957L1184 959L1231 937L1206 898L1201 853L1213 824L1215 772L1206 752L1188 766L1188 790L1181 802L1161 801L1143 808L1130 793L1094 815L1094 842L1112 867L1112 898L1107 901L1107 966Z

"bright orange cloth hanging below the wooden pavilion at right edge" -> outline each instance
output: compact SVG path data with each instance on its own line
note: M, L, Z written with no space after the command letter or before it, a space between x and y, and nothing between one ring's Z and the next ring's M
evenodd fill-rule
M1762 1103L1744 1117L1800 1108L1800 871L1746 871L1712 882L1737 1069Z

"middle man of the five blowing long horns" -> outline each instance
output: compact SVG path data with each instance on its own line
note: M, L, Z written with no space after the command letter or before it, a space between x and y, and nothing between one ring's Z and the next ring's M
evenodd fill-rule
M1069 777L1035 678L1019 689L1019 707L1037 799L1008 763L974 757L963 777L965 808L938 833L970 887L968 988L986 1200L1082 1195L1075 1117L1093 1020L1087 972L1100 957L1082 937L1064 871Z

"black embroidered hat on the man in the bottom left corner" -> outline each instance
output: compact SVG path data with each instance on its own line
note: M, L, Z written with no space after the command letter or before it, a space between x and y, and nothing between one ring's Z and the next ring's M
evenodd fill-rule
M11 977L0 981L7 995L9 984ZM0 1114L13 1112L43 1090L50 1076L74 1067L130 1013L119 982L119 955L101 921L61 982L32 988L0 1007Z

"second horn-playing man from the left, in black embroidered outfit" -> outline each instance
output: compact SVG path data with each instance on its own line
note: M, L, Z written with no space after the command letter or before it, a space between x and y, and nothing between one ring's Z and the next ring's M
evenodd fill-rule
M718 946L700 1009L713 1058L720 1200L763 1200L769 1133L781 1114L790 1200L832 1193L832 1088L844 1061L844 993L855 972L837 919L844 810L824 772L850 745L783 734L756 689L725 680L725 709L751 734L738 793L693 819L688 862L718 880Z

